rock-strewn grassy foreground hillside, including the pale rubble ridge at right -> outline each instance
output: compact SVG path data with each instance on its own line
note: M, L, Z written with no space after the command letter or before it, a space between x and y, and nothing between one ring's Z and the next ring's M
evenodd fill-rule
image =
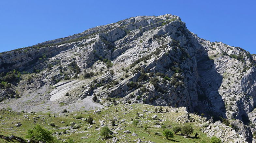
M167 110L166 110L167 109ZM51 130L53 135L60 141L68 138L75 143L90 142L146 142L146 143L206 143L210 137L221 137L227 143L245 143L245 138L239 136L235 131L219 121L212 123L206 118L188 113L186 108L171 108L145 105L145 104L120 104L101 110L80 111L58 114L46 113L17 113L8 110L0 110L2 125L0 134L8 137L21 137L26 140L27 130L36 124ZM88 123L92 117L93 124ZM115 121L113 125L113 120ZM136 124L134 121L138 121ZM21 126L17 126L20 123ZM175 126L192 125L193 133L189 137L183 137L181 132L174 137L166 139L163 136L164 129L172 130ZM108 139L98 135L100 129L108 126L113 132ZM197 134L197 137L194 137ZM0 141L7 143L5 139ZM13 139L13 141L15 141Z

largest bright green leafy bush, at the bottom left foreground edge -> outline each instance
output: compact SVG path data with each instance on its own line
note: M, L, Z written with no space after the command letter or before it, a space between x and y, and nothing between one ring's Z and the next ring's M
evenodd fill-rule
M44 143L55 143L56 139L52 136L52 133L41 127L39 124L33 127L32 130L27 131L27 138L29 138L30 142L39 142L42 141Z

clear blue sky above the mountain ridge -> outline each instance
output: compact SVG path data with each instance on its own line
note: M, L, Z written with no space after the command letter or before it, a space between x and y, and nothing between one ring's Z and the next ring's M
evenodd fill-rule
M1 0L0 52L138 15L174 14L210 41L256 54L255 0Z

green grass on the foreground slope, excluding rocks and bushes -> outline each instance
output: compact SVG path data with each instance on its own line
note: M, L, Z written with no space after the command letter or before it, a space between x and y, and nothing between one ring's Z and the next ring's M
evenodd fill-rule
M154 125L164 124L171 129L171 126L173 125L183 125L185 121L184 116L186 116L186 112L184 112L182 109L178 109L179 112L176 113L175 112L176 109L164 107L163 111L165 111L165 109L168 108L170 112L153 113L155 108L156 108L155 106L150 106L145 104L132 104L132 105L120 104L117 106L109 107L107 110L102 110L99 114L98 113L93 114L94 111L89 111L89 112L83 111L78 113L65 113L65 114L61 114L61 116L56 115L56 117L53 117L53 115L51 115L52 117L49 117L46 113L34 113L34 114L16 113L16 112L10 112L7 110L0 110L0 118L1 118L0 134L5 136L14 135L14 136L25 138L26 131L28 129L31 129L33 125L36 124L36 123L33 123L34 122L33 117L39 116L40 118L38 119L37 123L57 133L67 130L67 134L57 135L56 133L54 135L60 139L67 139L68 137L73 138L76 143L106 142L106 140L102 141L101 139L98 139L99 130L96 130L96 128L99 127L100 125L99 120L104 120L105 121L104 124L109 125L111 131L114 131L114 129L118 127L123 128L123 130L117 131L119 134L114 134L112 136L117 138L122 137L122 139L120 139L119 142L133 141L137 138L141 138L144 141L146 140L154 141L156 143L165 143L165 142L202 143L204 141L207 142L209 140L206 134L200 131L200 127L198 127L198 125L202 123L199 123L199 122L185 123L185 124L191 124L194 126L195 130L194 130L194 133L191 134L191 136L194 136L195 133L197 132L199 134L199 138L184 138L183 136L180 136L180 135L174 135L172 140L167 140L163 136L155 135L155 132L160 132L162 135L163 130L161 128L155 127ZM127 109L127 111L125 109ZM143 113L142 111L143 109L148 110L148 112ZM118 112L116 112L116 110ZM143 118L138 117L138 119L140 120L140 123L137 127L134 127L133 125L131 125L132 123L131 119L136 119L137 112L140 114L143 113ZM159 120L151 119L151 117L155 114L158 115ZM23 117L25 115L27 115L29 119L27 118L24 119ZM81 115L83 116L83 118L75 119L74 117L76 117L77 115ZM96 123L93 124L90 129L84 130L84 127L89 126L89 124L84 121L85 118L88 116L92 116L93 119L96 121ZM43 117L45 119L43 119ZM117 126L112 127L110 123L114 117L117 118L116 120ZM199 116L191 114L191 117L195 118L196 121L199 121L199 120L201 120L201 122L203 121L203 119ZM181 120L176 122L175 120L177 120L178 118L180 118ZM125 119L126 121L124 123L118 123L118 121L121 122L122 119ZM60 123L61 121L64 121L65 123L62 124ZM21 127L15 126L15 124L17 124L18 122L21 122L22 124ZM48 125L51 122L54 122L55 125L58 125L59 128ZM67 126L70 122L75 122L77 124L80 124L82 127L79 129L71 129L70 126ZM2 124L2 123L6 123L6 124ZM150 127L147 130L144 130L144 128L142 127L144 125L148 125ZM70 128L71 130L68 130L68 128ZM123 131L125 130L130 130L131 132L135 132L139 136L134 137L134 136L131 136L131 134L125 134L123 133ZM90 135L87 136L86 135L87 133ZM81 137L88 137L88 138L81 139ZM143 137L145 139L143 139ZM5 141L0 139L0 142L5 142Z

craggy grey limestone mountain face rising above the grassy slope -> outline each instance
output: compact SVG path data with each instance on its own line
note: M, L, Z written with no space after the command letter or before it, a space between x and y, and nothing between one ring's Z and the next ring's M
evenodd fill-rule
M53 85L68 88L53 90L51 102L70 104L97 96L96 102L120 97L131 103L184 106L213 120L242 121L243 132L237 132L252 142L254 59L239 47L197 37L178 16L167 14L128 18L1 53L0 72L35 73L29 82L26 74L20 82L10 82L21 98L27 88L38 92ZM61 81L69 78L76 80ZM6 93L11 91L2 88L0 98L8 98Z

